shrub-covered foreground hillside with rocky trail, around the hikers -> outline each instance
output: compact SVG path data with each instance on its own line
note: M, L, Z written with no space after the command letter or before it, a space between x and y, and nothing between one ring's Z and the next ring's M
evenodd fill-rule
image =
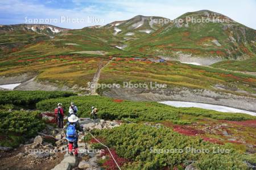
M76 159L52 112L70 101L84 127ZM0 104L2 169L255 168L256 117L248 114L45 91L1 92ZM33 111L19 111L24 105Z

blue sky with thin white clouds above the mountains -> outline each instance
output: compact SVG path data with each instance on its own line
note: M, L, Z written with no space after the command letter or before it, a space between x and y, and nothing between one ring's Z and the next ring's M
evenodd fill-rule
M79 29L126 20L135 15L175 19L185 12L211 10L256 29L255 9L255 0L0 0L0 24L39 22L40 19L42 23Z

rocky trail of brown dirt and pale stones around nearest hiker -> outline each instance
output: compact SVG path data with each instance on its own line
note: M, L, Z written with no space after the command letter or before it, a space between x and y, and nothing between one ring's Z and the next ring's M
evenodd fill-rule
M44 119L52 121L50 116L44 116ZM80 118L79 121L84 126L85 135L92 129L112 129L120 125L115 121L94 122L90 118ZM0 148L0 169L101 169L98 162L106 159L101 156L102 150L93 149L88 143L85 146L82 132L78 145L79 155L69 155L64 130L47 124L46 129L24 145L14 150Z

